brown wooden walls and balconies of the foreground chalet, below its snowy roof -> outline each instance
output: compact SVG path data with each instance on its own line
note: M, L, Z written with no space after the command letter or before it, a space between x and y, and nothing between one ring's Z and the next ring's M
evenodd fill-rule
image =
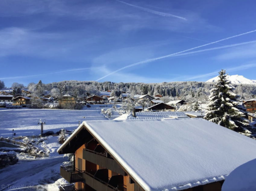
M64 187L69 191L145 191L85 125L58 152L75 156L74 165L60 167L60 175L74 187L65 184L61 191ZM219 181L184 191L221 191L222 184Z

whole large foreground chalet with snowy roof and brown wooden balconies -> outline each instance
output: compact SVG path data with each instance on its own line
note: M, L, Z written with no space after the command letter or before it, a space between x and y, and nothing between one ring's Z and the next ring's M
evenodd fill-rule
M231 171L256 158L255 147L205 119L87 121L57 150L74 156L60 167L71 183L60 190L221 191Z

